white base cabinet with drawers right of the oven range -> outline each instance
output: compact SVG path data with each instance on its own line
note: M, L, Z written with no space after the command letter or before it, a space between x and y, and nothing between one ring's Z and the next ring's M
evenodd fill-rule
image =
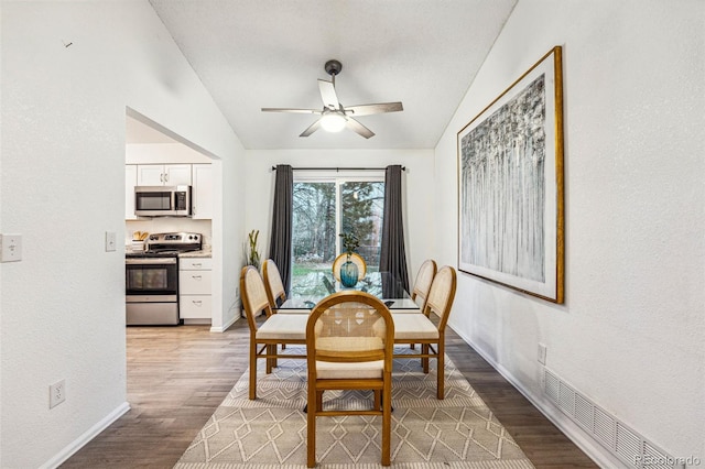
M178 259L178 316L189 319L213 318L213 259Z

